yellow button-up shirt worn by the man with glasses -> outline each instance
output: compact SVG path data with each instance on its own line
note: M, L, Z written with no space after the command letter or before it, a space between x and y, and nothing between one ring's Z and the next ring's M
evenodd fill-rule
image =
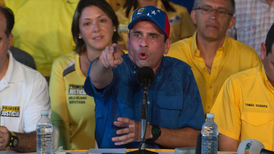
M210 112L227 77L262 63L254 49L226 37L224 44L216 52L209 74L204 59L200 57L200 51L197 49L196 32L190 38L171 44L167 56L178 58L191 66L205 114Z

